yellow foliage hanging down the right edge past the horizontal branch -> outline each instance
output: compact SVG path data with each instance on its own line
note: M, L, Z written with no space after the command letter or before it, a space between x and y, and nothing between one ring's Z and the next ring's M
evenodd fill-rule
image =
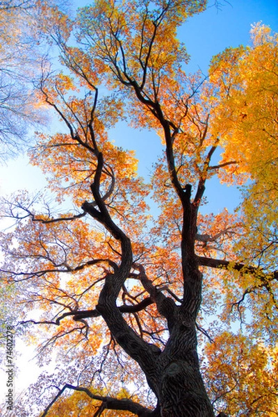
M251 35L250 47L227 49L212 62L210 81L218 92L212 132L220 136L224 149L220 163L227 163L220 170L221 179L249 179L243 188L234 259L259 268L256 274L233 272L233 279L227 275L226 302L241 300L250 334L271 340L277 334L278 287L272 272L277 270L278 254L278 38L262 24L254 25Z

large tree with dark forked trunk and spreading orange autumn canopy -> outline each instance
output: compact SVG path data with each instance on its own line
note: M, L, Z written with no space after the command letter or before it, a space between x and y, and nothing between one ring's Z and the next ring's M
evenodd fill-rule
M243 361L246 346L255 358L270 352L277 334L272 215L277 206L265 211L265 194L257 198L255 187L267 190L270 179L277 202L272 171L262 174L270 157L276 166L277 145L272 141L271 153L259 161L247 131L250 125L259 130L257 142L267 149L277 135L277 36L256 26L252 47L228 49L215 58L208 79L188 76L177 28L205 6L205 1L99 0L79 10L75 22L58 9L42 9L47 22L42 28L59 47L66 71L44 72L40 97L67 132L38 133L30 157L47 173L60 208L55 211L47 196L26 192L4 200L3 213L15 227L1 237L1 273L19 288L22 325L29 335L40 325L42 340L47 336L40 345L44 359L53 346L59 352L54 375L43 374L30 394L33 398L42 385L48 387L41 416L73 407L85 417L90 400L95 416L118 410L208 417L215 415L213 405L239 416L231 397L253 379L243 365L233 386L224 363L215 369L218 352L232 364L236 360L236 352L225 350L224 341L234 339L224 331L241 320ZM70 46L74 33L76 43ZM250 71L243 77L245 66ZM156 161L151 186L137 176L133 152L109 138L109 129L126 119L153 129L163 142L165 153ZM215 163L219 148L223 160ZM261 170L253 170L254 163L261 163ZM250 179L239 213L199 213L205 183L216 174L230 182ZM151 191L159 208L153 225L145 202ZM250 195L258 218L251 218ZM69 199L74 211L62 213ZM254 247L260 256L253 255ZM215 339L202 361L207 389L215 393L216 387L213 405L199 366L197 332L200 341ZM260 360L275 413L277 384ZM270 359L267 365L277 366ZM65 398L67 389L77 393ZM245 407L252 415L254 402Z

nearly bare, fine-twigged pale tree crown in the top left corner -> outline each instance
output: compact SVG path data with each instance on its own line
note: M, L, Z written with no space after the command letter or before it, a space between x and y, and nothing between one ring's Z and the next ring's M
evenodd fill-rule
M31 140L31 129L47 120L35 100L34 83L47 64L38 27L40 7L51 0L0 1L0 158L16 156ZM40 7L39 7L40 6Z

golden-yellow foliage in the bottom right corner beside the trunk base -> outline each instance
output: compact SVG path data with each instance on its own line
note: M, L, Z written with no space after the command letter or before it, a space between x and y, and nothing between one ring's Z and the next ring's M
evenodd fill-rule
M277 415L277 347L223 332L204 354L204 378L217 409L231 417Z

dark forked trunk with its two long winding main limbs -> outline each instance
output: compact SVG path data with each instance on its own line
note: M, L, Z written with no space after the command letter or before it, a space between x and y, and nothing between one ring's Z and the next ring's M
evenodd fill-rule
M133 83L138 99L142 100L136 83ZM106 321L111 334L131 358L142 368L149 387L154 391L158 405L154 416L161 417L213 417L213 407L206 394L202 375L199 371L197 356L196 318L202 302L202 274L199 272L195 255L195 236L197 229L197 211L204 193L204 177L199 180L195 199L191 199L191 186L183 188L177 176L174 162L174 133L165 120L159 104L149 104L154 108L157 119L163 126L167 166L183 208L183 229L181 233L181 264L183 273L183 300L177 305L170 297L158 291L148 279L142 265L133 264L131 242L113 222L103 199L100 180L104 168L104 158L97 152L98 165L95 181L91 189L95 204L85 202L83 210L95 220L101 222L112 236L120 241L122 261L113 275L106 277L104 288L99 295L97 310ZM97 147L95 147L97 149ZM212 152L211 152L212 154ZM208 160L211 157L208 156ZM95 208L95 205L99 208ZM169 339L163 351L156 345L149 345L127 325L117 308L117 297L124 281L129 277L131 268L138 269L140 281L149 297L156 304L158 312L167 320Z

